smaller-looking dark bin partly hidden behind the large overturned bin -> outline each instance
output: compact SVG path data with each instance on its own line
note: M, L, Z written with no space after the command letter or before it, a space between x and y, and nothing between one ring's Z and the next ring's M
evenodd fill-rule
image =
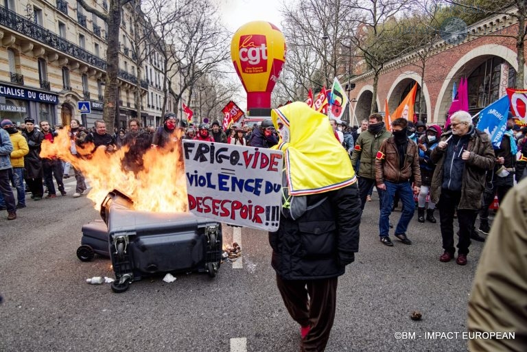
M95 220L82 225L82 239L77 248L77 257L82 261L91 261L95 253L110 257L108 250L108 227L103 220Z

